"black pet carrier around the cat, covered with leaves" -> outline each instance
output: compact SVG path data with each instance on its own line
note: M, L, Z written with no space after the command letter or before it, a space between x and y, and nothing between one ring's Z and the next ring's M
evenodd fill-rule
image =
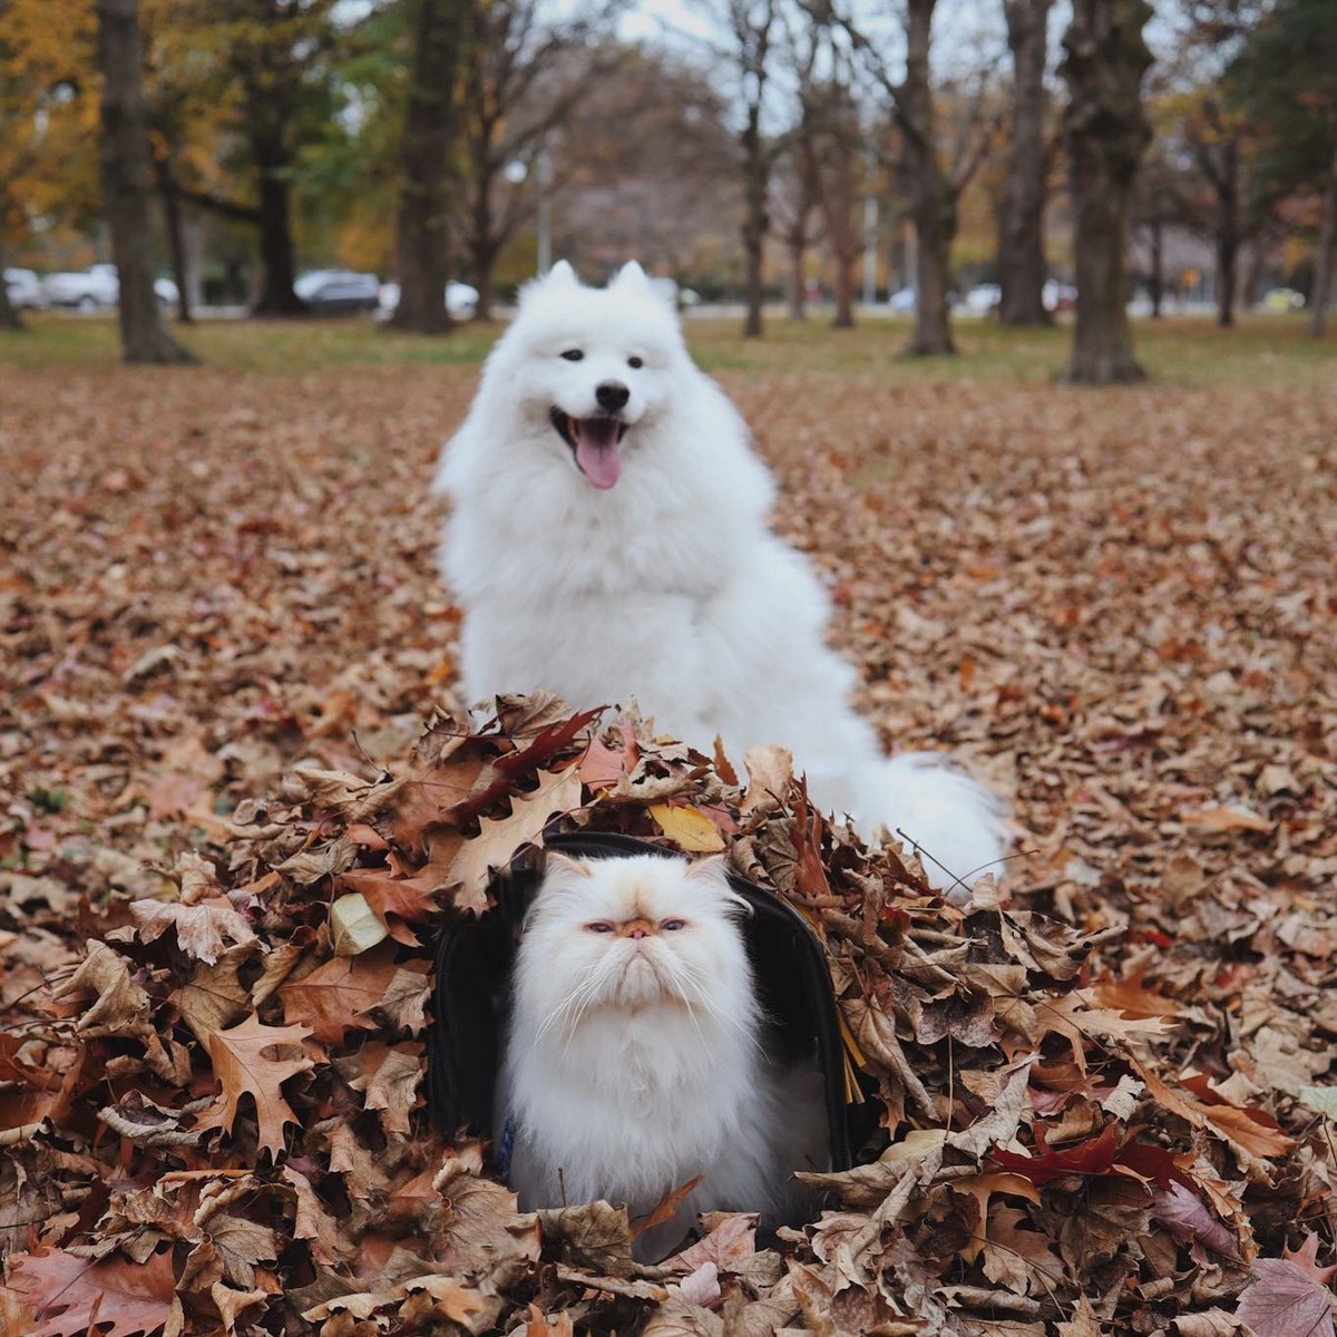
M575 832L550 836L545 844L575 858L681 857L675 850L616 834ZM443 1132L471 1128L492 1134L511 967L525 910L541 878L541 856L519 860L496 874L492 909L477 917L455 917L441 929L427 1091L432 1120ZM771 1023L767 1044L785 1062L818 1064L830 1126L830 1165L846 1170L857 1150L852 1146L856 1130L864 1131L873 1111L860 1103L858 1079L846 1063L825 953L792 905L734 873L729 881L751 908L743 933L758 993Z

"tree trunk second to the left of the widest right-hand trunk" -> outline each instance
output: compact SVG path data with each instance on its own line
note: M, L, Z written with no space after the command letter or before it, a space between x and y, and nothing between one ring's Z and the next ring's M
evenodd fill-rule
M933 142L933 87L928 60L935 4L936 0L909 0L905 82L896 99L897 119L905 135L909 214L916 237L915 333L905 349L910 357L956 352L947 306L956 201L951 183L943 175Z

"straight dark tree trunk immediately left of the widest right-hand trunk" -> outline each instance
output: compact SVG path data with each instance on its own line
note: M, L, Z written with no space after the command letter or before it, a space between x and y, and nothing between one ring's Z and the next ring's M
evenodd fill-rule
M999 320L1051 325L1044 308L1046 24L1054 0L1005 0L1012 52L1012 151L1008 156L999 235Z

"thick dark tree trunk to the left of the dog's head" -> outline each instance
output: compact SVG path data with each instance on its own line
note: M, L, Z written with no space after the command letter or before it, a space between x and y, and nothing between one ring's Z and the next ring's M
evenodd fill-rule
M459 0L414 0L412 11L413 71L397 237L400 305L390 324L414 334L445 334L453 324L445 309L447 171L465 27Z

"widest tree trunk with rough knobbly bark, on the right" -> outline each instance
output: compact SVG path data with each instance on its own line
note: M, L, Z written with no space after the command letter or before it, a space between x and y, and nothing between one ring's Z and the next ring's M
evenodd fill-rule
M1142 107L1142 75L1151 64L1142 27L1150 17L1146 0L1074 0L1063 39L1063 136L1078 278L1072 358L1063 380L1075 385L1146 374L1132 356L1124 251L1130 194L1151 140Z

